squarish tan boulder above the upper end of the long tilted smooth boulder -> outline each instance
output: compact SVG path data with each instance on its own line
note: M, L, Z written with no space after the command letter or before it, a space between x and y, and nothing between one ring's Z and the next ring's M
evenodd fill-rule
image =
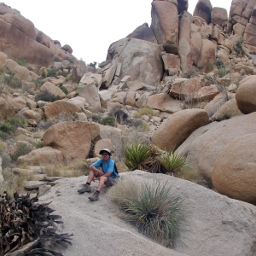
M175 113L182 110L180 103L168 94L160 93L149 96L147 106L167 113Z

